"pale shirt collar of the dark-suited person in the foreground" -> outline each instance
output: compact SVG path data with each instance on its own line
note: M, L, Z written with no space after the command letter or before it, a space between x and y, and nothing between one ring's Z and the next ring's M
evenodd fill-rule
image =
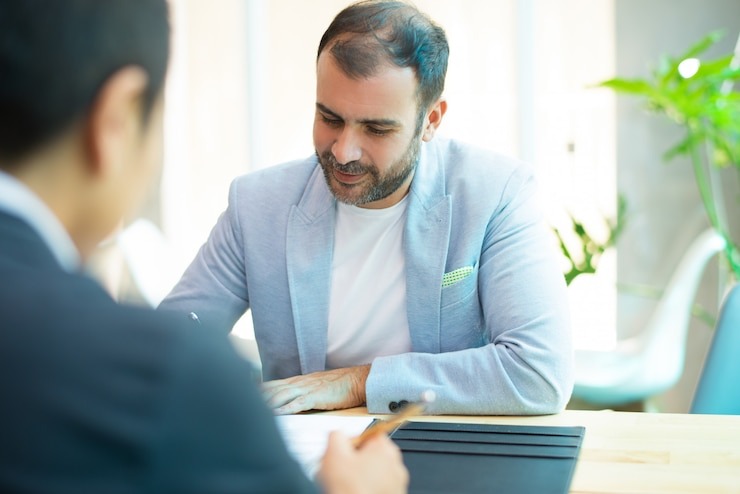
M0 211L28 223L41 236L64 270L79 271L80 253L59 219L28 187L2 171Z

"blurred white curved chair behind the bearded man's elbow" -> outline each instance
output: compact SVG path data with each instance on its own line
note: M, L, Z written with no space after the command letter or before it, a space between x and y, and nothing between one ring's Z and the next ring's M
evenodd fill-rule
M645 401L681 377L694 295L709 259L725 247L710 229L689 246L646 327L611 351L577 350L573 397L595 405Z

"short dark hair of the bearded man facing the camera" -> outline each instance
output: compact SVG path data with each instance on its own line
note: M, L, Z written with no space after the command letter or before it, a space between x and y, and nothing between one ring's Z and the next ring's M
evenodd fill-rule
M370 77L385 61L414 69L421 112L444 90L450 51L447 36L409 3L367 0L350 5L324 33L317 58L327 47L350 77Z

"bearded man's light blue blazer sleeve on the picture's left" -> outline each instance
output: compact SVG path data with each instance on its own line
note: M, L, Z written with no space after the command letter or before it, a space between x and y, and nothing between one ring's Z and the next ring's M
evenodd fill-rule
M229 204L208 240L158 310L195 312L209 328L228 333L249 309L244 241L239 223L237 181L229 189Z

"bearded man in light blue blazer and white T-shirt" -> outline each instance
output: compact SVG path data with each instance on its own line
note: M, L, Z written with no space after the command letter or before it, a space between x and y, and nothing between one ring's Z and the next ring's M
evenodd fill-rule
M565 283L532 170L435 138L448 45L397 1L354 4L317 59L315 156L237 178L163 310L251 309L277 413L431 390L437 414L547 414L573 385Z

